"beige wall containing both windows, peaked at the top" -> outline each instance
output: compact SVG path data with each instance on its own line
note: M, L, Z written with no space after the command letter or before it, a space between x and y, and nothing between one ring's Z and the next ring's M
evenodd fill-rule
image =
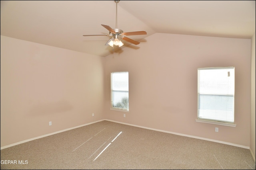
M106 57L106 119L250 146L250 39L155 33L137 48ZM235 67L236 127L195 121L197 68L216 66ZM129 71L129 113L109 109L115 71Z

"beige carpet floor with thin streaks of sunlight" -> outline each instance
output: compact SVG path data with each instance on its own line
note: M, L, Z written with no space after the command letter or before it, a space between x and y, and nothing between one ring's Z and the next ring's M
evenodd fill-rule
M255 162L249 149L100 121L2 149L1 169L255 170Z

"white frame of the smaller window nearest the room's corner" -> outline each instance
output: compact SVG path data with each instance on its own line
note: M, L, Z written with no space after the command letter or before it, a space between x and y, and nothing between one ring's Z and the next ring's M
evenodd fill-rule
M115 90L113 90L113 78L112 78L112 76L113 76L113 74L118 74L118 73L127 73L128 74L128 84L126 85L127 87L126 88L128 88L128 89L126 89L126 90L117 90L117 91L119 91L119 92L125 92L125 93L128 93L128 108L122 108L122 107L114 107L113 106L113 91L115 91ZM111 72L111 80L110 80L110 82L111 82L111 92L110 92L110 94L111 94L111 100L110 100L110 109L111 110L117 110L117 111L125 111L125 112L129 112L129 72L128 71L123 71L123 72ZM127 96L127 95L126 95Z

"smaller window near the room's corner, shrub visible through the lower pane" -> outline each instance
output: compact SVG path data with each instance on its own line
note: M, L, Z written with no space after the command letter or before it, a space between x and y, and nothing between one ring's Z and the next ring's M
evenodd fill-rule
M129 74L111 73L111 108L129 111Z

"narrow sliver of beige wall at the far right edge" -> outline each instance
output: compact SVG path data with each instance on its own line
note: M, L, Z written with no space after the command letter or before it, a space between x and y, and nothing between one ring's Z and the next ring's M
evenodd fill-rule
M255 33L252 37L252 59L251 59L251 132L250 132L250 150L254 156L255 162Z

